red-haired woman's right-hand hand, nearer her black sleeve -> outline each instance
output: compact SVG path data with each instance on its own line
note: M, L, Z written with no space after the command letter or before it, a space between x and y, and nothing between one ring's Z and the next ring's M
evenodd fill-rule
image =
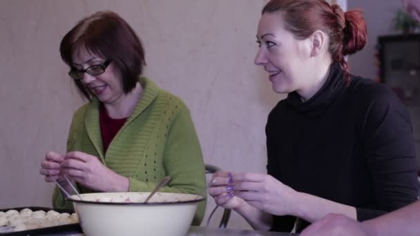
M240 173L233 175L235 195L271 215L296 215L296 191L271 175Z

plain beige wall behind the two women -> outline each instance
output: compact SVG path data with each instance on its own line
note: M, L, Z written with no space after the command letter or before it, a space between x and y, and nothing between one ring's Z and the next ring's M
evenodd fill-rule
M50 206L53 184L44 183L39 163L47 150L64 153L72 114L82 104L59 41L97 10L121 14L140 35L145 75L187 103L207 163L265 172L265 122L283 96L253 62L264 3L0 0L0 208ZM229 226L248 227L236 215Z

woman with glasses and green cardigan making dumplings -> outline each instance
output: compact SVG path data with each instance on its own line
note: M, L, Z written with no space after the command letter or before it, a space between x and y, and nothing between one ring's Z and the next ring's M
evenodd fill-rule
M144 49L114 12L82 19L62 39L61 58L88 99L75 112L67 153L49 151L41 175L68 192L69 177L82 193L147 192L164 176L164 192L205 193L204 164L187 106L141 77ZM71 208L55 189L56 208ZM200 224L203 202L193 224Z

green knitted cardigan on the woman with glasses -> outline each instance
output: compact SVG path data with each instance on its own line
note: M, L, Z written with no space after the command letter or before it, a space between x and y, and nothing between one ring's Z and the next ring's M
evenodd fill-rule
M187 106L151 79L141 77L139 81L144 88L142 98L106 153L95 98L75 112L67 152L78 150L98 157L115 173L128 177L130 192L149 192L162 177L170 176L170 183L160 191L206 196L204 161ZM82 193L93 192L81 185L78 188ZM193 225L200 224L205 205L205 201L198 205ZM73 208L58 188L53 206Z

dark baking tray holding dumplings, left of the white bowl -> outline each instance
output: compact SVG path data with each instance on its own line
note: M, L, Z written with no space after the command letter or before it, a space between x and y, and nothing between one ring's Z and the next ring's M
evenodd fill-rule
M66 209L55 209L55 208L48 208L48 207L40 207L40 206L26 206L26 207L16 207L16 208L6 208L6 209L0 209L3 212L6 212L8 210L17 210L21 211L24 208L29 208L32 211L36 210L44 210L47 212L48 210L55 210L57 213L74 213L74 210L66 210ZM64 224L61 226L51 226L46 228L36 228L32 230L23 230L18 232L10 232L10 233L0 233L1 236L3 235L48 235L48 234L57 234L57 233L64 233L64 232L72 232L72 233L82 233L82 228L80 228L79 224Z

